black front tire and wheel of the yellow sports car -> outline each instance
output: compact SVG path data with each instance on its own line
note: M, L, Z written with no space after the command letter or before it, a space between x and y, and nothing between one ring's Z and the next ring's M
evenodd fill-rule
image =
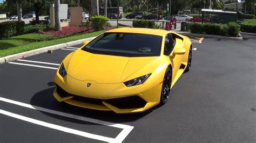
M172 71L170 67L167 67L163 79L163 84L161 88L161 96L160 96L160 105L164 105L168 99L169 99L169 94L170 94L170 89L171 89L171 84L172 84Z

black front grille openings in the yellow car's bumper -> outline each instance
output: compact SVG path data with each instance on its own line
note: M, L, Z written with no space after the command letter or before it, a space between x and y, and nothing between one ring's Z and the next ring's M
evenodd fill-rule
M88 98L88 97L69 94L64 89L60 88L59 85L57 84L56 84L56 91L57 91L57 94L62 98L73 96L72 99L75 99L76 101L97 104L97 105L104 105L102 103L104 101L119 109L143 108L146 105L146 102L144 101L144 99L140 98L137 95L129 96L129 97L114 98L114 99Z

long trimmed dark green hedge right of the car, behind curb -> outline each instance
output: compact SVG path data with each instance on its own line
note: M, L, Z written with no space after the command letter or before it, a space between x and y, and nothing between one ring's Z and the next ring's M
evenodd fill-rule
M190 23L191 33L198 34L211 34L236 37L240 31L240 26L231 22L228 24L215 24L215 23Z

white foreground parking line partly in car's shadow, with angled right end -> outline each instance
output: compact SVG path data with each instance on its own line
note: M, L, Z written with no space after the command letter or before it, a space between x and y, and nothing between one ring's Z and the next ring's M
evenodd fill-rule
M7 98L3 98L3 97L0 97L0 101L15 104L15 105L19 105L19 106L23 106L23 107L29 108L29 109L34 109L34 110L38 110L38 111L52 113L52 114L59 115L59 116L64 116L64 117L68 117L68 118L88 121L88 122L95 123L95 124L117 127L117 128L123 128L123 130L117 135L117 137L114 138L113 142L122 142L134 128L133 126L129 126L129 125L116 124L116 123L111 123L109 121L97 120L97 119L87 118L87 117L83 117L83 116L72 115L70 113L64 113L64 112L55 111L55 110L51 110L51 109L41 108L41 107L38 107L38 106L32 106L30 104L26 104L26 103L22 103L22 102L18 102L18 101L13 101L11 99L7 99ZM87 138L90 138L90 137L87 137Z

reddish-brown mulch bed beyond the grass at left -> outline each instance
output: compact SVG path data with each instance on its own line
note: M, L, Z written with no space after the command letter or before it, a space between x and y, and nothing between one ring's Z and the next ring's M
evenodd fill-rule
M105 30L111 30L113 27L106 26L104 27ZM51 34L53 37L66 37L68 35L73 35L76 33L90 33L95 31L92 27L79 27L79 26L68 26L62 27L62 31L55 31L55 30L46 30L44 34Z

